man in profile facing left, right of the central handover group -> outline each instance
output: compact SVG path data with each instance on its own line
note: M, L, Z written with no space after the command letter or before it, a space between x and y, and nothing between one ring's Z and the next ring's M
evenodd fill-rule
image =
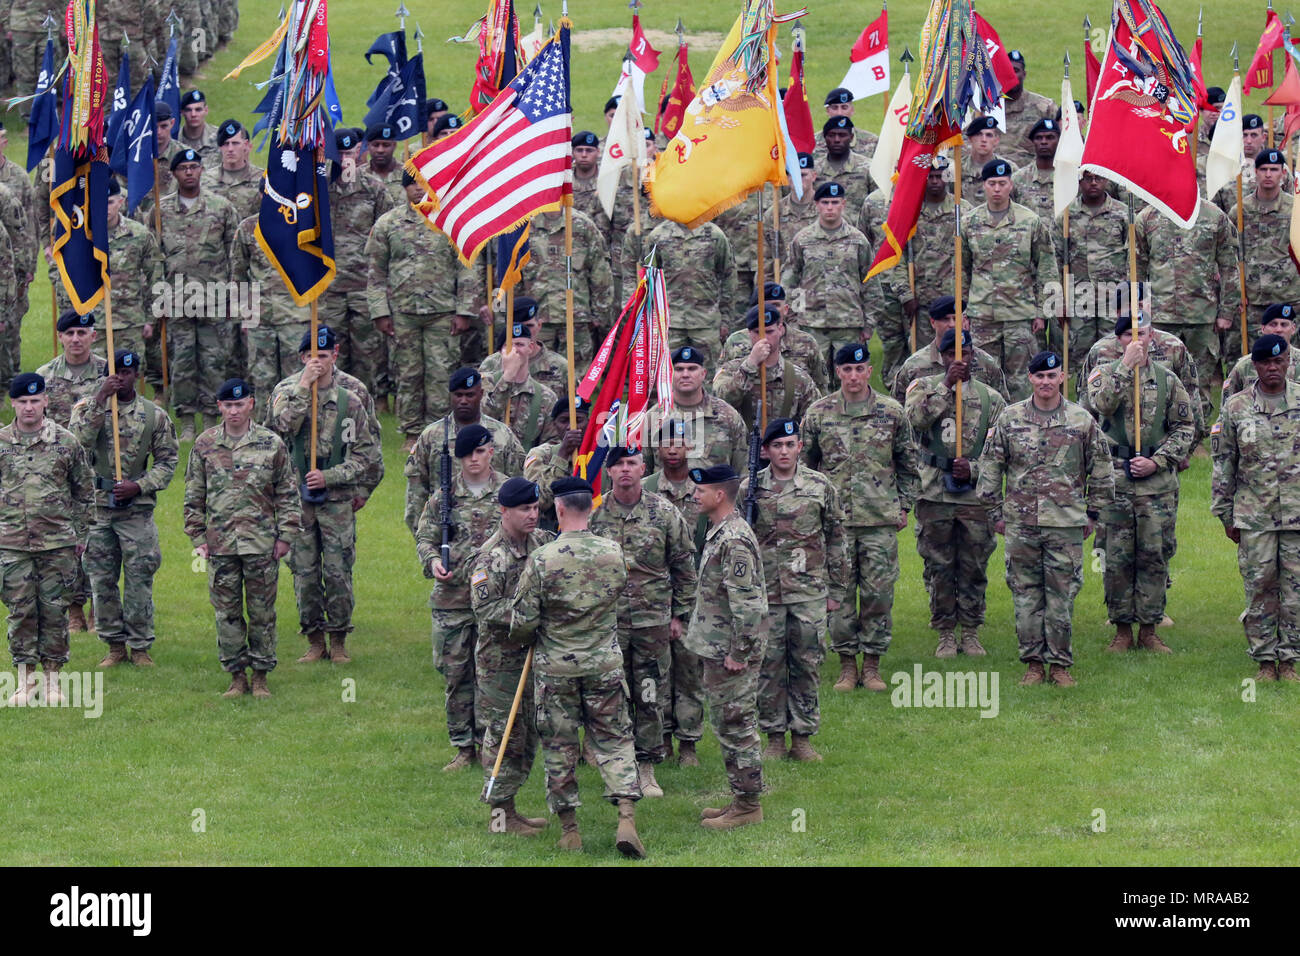
M696 505L708 518L696 607L682 637L701 662L714 736L723 750L732 801L705 808L701 826L732 830L763 821L763 757L758 680L763 666L767 584L754 532L736 510L740 475L729 464L692 468Z

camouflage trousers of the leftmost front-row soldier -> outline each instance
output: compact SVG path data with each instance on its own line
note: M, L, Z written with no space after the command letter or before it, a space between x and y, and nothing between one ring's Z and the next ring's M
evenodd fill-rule
M79 566L73 548L0 549L0 600L9 609L16 665L68 661L68 591Z

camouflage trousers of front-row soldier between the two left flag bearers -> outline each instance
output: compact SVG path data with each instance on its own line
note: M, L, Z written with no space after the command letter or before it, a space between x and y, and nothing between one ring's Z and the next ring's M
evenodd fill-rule
M274 670L278 587L280 562L269 554L208 557L208 597L217 613L217 659L224 670Z

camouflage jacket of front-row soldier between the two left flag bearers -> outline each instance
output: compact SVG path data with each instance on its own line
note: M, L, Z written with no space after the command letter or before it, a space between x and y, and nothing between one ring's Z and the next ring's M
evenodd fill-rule
M200 434L185 468L185 533L208 554L266 555L303 522L289 449L251 424L238 438L218 424Z

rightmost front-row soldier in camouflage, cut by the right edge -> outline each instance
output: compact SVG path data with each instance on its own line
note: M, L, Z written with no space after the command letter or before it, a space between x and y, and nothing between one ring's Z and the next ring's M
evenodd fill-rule
M1300 382L1280 336L1251 347L1256 382L1223 401L1210 429L1210 511L1236 545L1245 640L1260 680L1300 680Z

